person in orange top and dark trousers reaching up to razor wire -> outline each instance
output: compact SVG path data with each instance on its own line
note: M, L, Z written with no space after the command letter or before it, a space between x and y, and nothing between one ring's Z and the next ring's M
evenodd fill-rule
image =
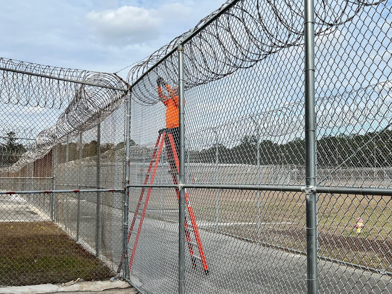
M180 134L178 130L179 119L178 119L178 87L170 87L169 84L165 83L163 78L159 77L156 80L157 89L158 89L158 98L162 103L166 106L166 132L171 133L173 135L174 145L176 148L176 155L179 155L179 145L180 145ZM167 95L163 94L162 87L166 88ZM165 136L165 144L166 148L170 145L169 137ZM169 152L174 158L171 148L169 148ZM178 169L176 163L171 160L172 169L169 171L172 175L178 174Z

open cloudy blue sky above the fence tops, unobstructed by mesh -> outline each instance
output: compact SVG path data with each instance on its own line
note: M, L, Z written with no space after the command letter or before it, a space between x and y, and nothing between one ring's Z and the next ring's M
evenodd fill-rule
M0 57L113 73L188 31L223 2L0 0Z

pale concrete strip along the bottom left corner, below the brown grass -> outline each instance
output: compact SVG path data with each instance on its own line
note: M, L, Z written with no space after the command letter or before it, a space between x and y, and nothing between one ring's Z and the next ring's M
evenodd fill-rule
M125 281L96 281L78 282L70 286L61 285L34 285L22 287L0 288L0 294L47 294L47 293L72 293L72 294L135 294L138 293Z

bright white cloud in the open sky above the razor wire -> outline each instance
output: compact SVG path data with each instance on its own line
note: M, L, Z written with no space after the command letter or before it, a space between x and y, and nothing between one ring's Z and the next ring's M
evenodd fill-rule
M212 2L179 1L154 7L123 5L118 9L91 11L86 19L92 37L102 44L117 47L149 44L158 49L211 13L211 7L216 5Z

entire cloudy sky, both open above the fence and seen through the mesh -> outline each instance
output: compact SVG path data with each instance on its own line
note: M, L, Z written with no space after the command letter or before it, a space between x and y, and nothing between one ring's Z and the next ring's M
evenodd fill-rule
M3 22L0 24L4 28L4 46L0 48L0 56L113 73L150 55L174 37L194 27L201 18L220 7L222 2L82 0L53 3L41 0L35 1L33 5L17 0L4 3L0 11L0 22ZM335 27L329 34L316 37L318 138L379 131L391 121L391 2L383 2L377 7L362 7L360 13L347 23ZM265 15L270 12L262 11ZM328 13L334 15L329 10ZM260 24L253 24L250 18L245 17L245 20L247 28L252 28L256 35L258 30L262 31ZM270 32L283 32L283 36L286 36L283 24L279 23L280 27L276 28L274 22L267 20L266 23ZM297 23L301 23L299 15ZM232 31L235 41L241 40L241 45L248 44L247 38L243 38L247 35L245 30L241 31L241 25L235 24L230 22L225 25L235 27ZM221 31L225 32L224 28ZM230 56L237 56L234 41L230 43L225 34L219 34L221 31L214 31L214 36L225 42L218 44L211 36L203 39L200 45L203 50L200 52L204 55L201 56L195 50L192 60L199 58L199 61L203 61L202 57L209 53L205 50L207 41L213 45L223 44L225 49L232 50ZM264 34L260 33L259 37L257 40L265 40ZM267 41L274 42L274 38ZM218 47L211 47L219 52ZM250 49L254 48L250 46ZM188 55L185 56L185 64L189 62ZM205 64L200 64L205 70ZM124 78L127 71L122 74ZM150 93L156 98L155 86L152 89ZM303 101L303 89L303 46L283 48L249 69L240 69L221 80L187 90L186 129L190 133L208 137L205 143L195 140L201 147L213 144L218 135L219 142L232 147L240 143L244 134L255 133L256 129L263 140L285 143L303 138L304 115L298 111L303 109L302 104L298 103ZM298 109L289 107L293 103L296 103ZM7 110L13 117L27 112L25 108L18 107ZM38 111L41 110L37 110L36 121L42 117ZM54 113L52 115L53 120L41 123L41 128L55 123ZM151 107L134 103L132 139L141 145L153 142L156 131L164 127L164 115L162 103ZM253 120L242 122L243 117L248 116L252 116ZM110 121L107 125L116 125L117 129L122 129L123 118L120 117L116 122ZM218 125L224 125L219 134L210 130ZM208 130L205 129L210 130L208 136ZM91 131L92 138L95 131ZM116 134L116 138L107 140L123 140L122 131ZM89 135L87 138L90 140Z

